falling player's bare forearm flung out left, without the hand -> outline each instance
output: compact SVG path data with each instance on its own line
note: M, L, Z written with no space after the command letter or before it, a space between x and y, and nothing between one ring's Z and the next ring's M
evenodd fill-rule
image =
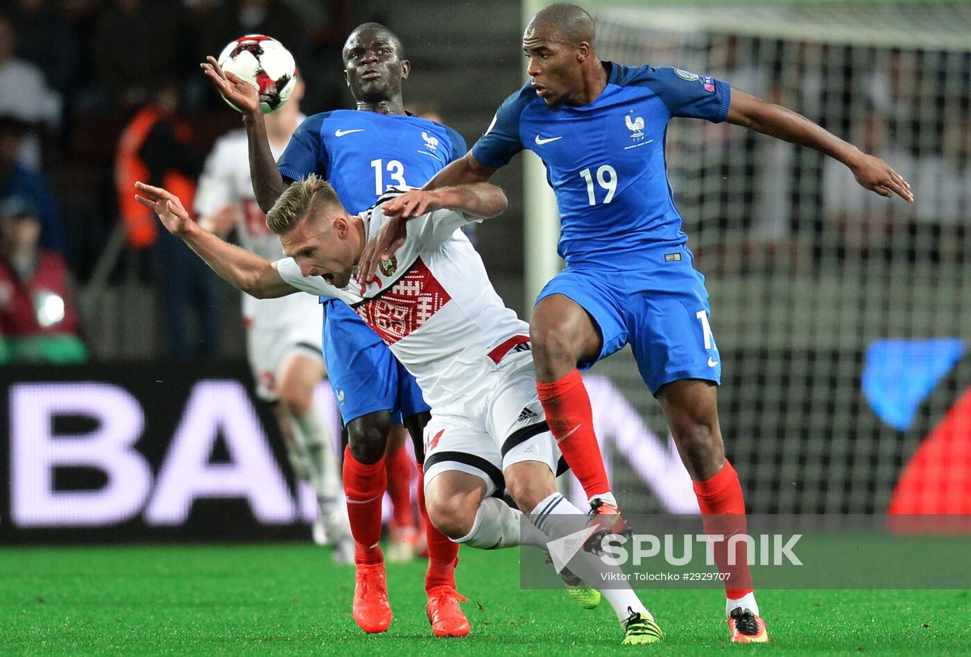
M297 292L269 260L229 244L199 225L179 235L222 280L256 298L276 298Z

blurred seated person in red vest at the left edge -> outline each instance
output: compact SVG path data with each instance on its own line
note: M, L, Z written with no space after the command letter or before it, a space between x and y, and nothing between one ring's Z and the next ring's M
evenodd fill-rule
M80 363L87 350L67 266L40 236L29 200L0 205L0 362Z

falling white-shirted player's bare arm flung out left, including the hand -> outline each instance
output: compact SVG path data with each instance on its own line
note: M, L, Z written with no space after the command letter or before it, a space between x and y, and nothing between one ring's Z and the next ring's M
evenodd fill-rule
M245 249L223 242L189 219L174 193L145 183L135 183L135 199L151 209L166 229L182 240L227 283L256 298L297 292L280 276L273 263Z

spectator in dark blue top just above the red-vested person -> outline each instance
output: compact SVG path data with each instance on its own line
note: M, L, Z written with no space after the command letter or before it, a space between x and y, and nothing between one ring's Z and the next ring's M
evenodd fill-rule
M20 146L30 123L16 116L0 115L0 201L11 197L27 199L37 209L41 222L40 244L64 254L64 227L54 207L53 193L44 175L18 161Z

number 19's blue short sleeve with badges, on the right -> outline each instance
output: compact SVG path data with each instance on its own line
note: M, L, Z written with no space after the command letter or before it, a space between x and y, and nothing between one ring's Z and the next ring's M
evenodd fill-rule
M670 66L633 69L634 84L650 86L672 117L720 123L728 116L731 87L711 76Z

